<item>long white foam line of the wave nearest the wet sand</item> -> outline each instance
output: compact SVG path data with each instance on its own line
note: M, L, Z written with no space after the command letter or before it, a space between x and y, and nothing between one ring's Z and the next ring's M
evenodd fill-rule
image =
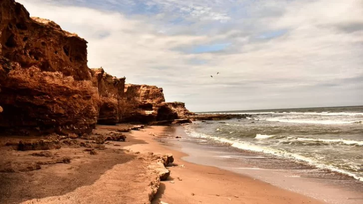
M351 177L353 177L353 178L355 178L355 179L357 179L359 181L363 181L363 177L359 177L358 175L353 174L351 172L339 169L339 168L331 166L331 165L322 164L322 163L319 162L319 160L304 157L302 155L287 152L285 150L273 149L273 148L270 148L270 147L257 146L257 145L250 144L250 143L243 142L243 141L229 140L229 139L226 139L226 138L220 138L220 137L215 137L215 136L210 136L210 135L205 135L205 134L199 134L199 133L195 133L195 132L189 132L188 135L191 136L191 137L202 137L202 138L208 138L208 139L212 139L214 141L218 141L218 142L222 142L222 143L228 143L232 147L235 147L235 148L238 148L238 149L249 150L249 151L254 151L254 152L263 152L263 153L266 153L266 154L272 154L272 155L283 157L283 158L290 158L290 159L296 159L296 160L304 161L304 162L307 162L308 164L316 166L318 168L329 169L329 170L334 171L334 172L339 172L339 173L342 173L342 174L349 175L349 176L351 176Z

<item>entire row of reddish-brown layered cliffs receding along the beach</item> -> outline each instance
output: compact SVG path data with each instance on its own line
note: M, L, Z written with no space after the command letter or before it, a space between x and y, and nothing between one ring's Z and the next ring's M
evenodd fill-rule
M89 69L86 40L0 1L0 133L81 135L96 123L181 118L182 108L161 88Z

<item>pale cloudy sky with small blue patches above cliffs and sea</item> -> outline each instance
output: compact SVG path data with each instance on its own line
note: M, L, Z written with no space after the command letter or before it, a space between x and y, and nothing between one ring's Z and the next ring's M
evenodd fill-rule
M363 0L17 1L192 111L363 105Z

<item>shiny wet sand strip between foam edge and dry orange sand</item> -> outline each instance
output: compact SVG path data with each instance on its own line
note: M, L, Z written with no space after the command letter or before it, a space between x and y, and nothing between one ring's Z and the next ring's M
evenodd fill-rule
M318 169L303 162L264 153L240 150L202 138L188 137L183 128L168 127L164 137L169 147L187 153L182 159L248 175L285 190L330 204L362 204L363 183L347 175Z

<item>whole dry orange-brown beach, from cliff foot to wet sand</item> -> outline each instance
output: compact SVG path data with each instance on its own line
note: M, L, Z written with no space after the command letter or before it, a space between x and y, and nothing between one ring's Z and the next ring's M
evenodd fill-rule
M94 134L107 135L122 127L99 125ZM184 153L160 142L166 137L166 128L149 126L126 133L125 142L104 145L80 138L62 139L61 147L47 151L16 151L4 143L19 138L2 137L0 203L322 203L247 176L185 162L181 159ZM160 181L155 163L158 155L166 154L173 154L174 163L167 167L169 178Z

